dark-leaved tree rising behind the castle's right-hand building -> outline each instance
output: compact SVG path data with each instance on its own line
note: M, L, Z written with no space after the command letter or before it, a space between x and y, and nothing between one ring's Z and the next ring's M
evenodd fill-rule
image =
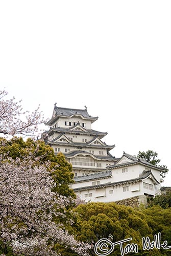
M148 150L146 152L139 151L137 157L145 159L150 164L156 165L158 167L162 167L163 171L161 172L161 176L163 178L165 177L165 174L168 172L168 168L166 165L158 165L158 163L160 163L161 160L158 158L158 153L156 153L152 150Z

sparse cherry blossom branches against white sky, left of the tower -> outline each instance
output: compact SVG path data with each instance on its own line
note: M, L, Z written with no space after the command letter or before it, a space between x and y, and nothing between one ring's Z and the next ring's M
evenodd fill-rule
M8 92L0 91L0 133L12 135L35 135L38 124L44 123L42 112L38 108L29 113L23 111L21 100L7 99Z

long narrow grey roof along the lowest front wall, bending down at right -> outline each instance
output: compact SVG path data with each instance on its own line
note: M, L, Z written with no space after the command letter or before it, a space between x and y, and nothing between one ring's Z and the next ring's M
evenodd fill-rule
M124 180L124 181L117 181L117 182L111 182L111 183L103 183L100 185L91 185L91 186L85 186L85 187L77 187L74 188L74 191L82 191L82 190L88 190L88 189L94 189L94 188L102 188L102 187L111 187L111 186L118 186L118 185L125 185L129 183L135 183L139 181L143 181L147 178L150 178L153 180L154 183L159 184L159 182L155 179L151 171L143 172L141 177L130 179L130 180Z

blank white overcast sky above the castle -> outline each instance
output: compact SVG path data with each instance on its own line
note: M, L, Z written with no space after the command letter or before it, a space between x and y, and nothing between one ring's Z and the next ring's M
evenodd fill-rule
M0 87L38 104L99 116L111 153L153 150L170 169L171 2L0 1Z

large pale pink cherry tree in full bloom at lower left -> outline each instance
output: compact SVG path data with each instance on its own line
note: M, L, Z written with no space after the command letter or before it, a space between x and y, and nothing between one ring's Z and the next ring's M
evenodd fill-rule
M49 164L37 165L30 153L25 159L2 159L0 166L0 233L14 253L26 256L60 255L59 246L75 255L88 255L89 245L78 242L63 224L70 199L53 191ZM67 220L72 224L72 220Z

